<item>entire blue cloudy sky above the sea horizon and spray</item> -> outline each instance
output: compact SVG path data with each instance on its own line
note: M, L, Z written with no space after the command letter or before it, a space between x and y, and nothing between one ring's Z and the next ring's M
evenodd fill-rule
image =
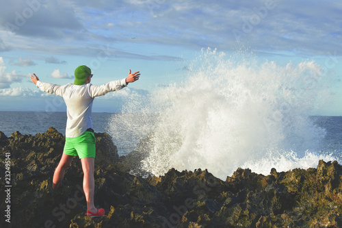
M202 48L233 53L237 41L263 61L315 60L331 76L330 102L342 115L341 1L1 0L0 110L63 111L31 84L66 84L92 68L92 84L141 71L139 81L94 103L118 112L125 97L182 81Z

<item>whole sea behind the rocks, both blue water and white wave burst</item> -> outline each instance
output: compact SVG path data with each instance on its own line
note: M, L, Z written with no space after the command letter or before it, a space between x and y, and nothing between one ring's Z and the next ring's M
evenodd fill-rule
M181 81L144 97L131 94L120 113L93 112L94 130L107 132L119 155L148 138L144 170L201 168L223 180L237 168L269 175L272 168L316 168L319 160L342 164L342 116L315 114L331 95L321 93L331 81L324 66L215 49L184 64ZM8 137L49 127L65 134L65 125L64 112L0 112L0 131Z

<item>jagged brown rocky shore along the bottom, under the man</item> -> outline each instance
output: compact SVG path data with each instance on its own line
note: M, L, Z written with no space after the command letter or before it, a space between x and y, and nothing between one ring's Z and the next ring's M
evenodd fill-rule
M53 127L36 136L0 131L0 227L342 227L337 162L281 173L275 167L267 176L239 168L226 181L200 169L143 178L131 175L139 173L143 150L119 157L108 134L96 133L96 140L95 203L106 213L88 218L78 158L60 188L51 188L62 134Z

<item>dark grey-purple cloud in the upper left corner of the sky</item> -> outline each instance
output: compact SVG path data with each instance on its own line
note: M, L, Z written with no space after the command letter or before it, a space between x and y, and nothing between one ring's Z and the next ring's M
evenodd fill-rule
M69 1L8 1L0 8L0 26L14 34L61 38L83 26Z

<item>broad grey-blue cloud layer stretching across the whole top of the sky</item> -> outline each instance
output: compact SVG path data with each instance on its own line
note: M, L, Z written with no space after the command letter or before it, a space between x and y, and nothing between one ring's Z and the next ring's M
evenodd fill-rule
M166 58L142 50L148 45L230 51L237 34L253 51L341 55L341 13L339 1L18 0L0 9L0 35L6 47L64 55L97 56L105 43L109 58L172 60L168 49L157 53ZM18 29L6 33L6 23Z

